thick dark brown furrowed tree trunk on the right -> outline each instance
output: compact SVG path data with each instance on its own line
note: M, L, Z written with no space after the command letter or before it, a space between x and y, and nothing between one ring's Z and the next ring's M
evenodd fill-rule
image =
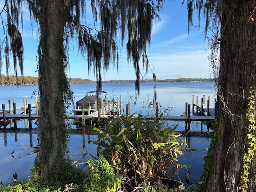
M206 178L206 192L234 192L240 184L242 154L247 148L249 91L256 82L255 24L247 21L250 1L221 1L220 71L218 77L218 144ZM255 111L254 111L255 114ZM255 159L254 159L255 160ZM248 191L256 191L255 161Z

